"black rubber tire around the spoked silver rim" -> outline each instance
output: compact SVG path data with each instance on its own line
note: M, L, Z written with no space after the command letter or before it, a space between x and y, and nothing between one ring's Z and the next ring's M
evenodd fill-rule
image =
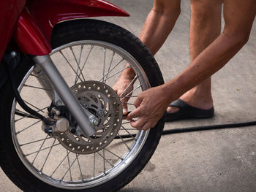
M151 87L163 83L162 74L157 62L148 51L145 45L129 31L111 23L99 20L72 20L59 23L53 30L52 46L53 48L65 45L69 42L83 39L94 39L102 42L109 42L113 45L123 48L131 54L142 66ZM15 69L15 78L18 85L31 66L26 64L18 65ZM14 95L10 82L5 83L1 88L1 134L0 134L0 164L5 174L23 191L72 191L63 188L56 188L39 180L29 169L20 161L20 157L15 150L12 141L11 132L11 111ZM140 153L126 169L117 177L109 180L102 185L93 188L75 189L75 191L118 191L127 185L132 179L140 173L148 163L154 150L157 148L159 139L164 126L163 118L159 120L157 126L151 128ZM29 137L29 136L28 136Z

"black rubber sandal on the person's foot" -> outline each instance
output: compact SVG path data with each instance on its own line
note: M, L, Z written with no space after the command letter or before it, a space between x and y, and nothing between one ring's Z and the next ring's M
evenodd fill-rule
M201 110L197 107L192 107L181 99L173 101L170 107L178 107L177 112L165 113L165 122L170 122L173 120L182 120L182 119L203 119L203 118L212 118L214 116L214 107L211 107L210 110Z

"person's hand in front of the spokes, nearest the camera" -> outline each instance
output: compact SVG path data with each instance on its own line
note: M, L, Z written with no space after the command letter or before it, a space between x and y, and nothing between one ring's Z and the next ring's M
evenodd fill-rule
M161 85L140 93L134 104L137 109L129 113L127 120L131 120L132 127L147 130L156 126L158 120L162 118L170 104L170 96L165 93L164 86Z

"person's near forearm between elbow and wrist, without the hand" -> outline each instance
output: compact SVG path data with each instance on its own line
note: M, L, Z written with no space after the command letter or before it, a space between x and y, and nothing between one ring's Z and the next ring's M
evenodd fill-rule
M178 99L183 93L211 77L212 74L225 66L227 61L236 55L245 42L244 39L228 37L222 33L181 74L178 74L177 77L163 86L165 92L172 95L170 101Z

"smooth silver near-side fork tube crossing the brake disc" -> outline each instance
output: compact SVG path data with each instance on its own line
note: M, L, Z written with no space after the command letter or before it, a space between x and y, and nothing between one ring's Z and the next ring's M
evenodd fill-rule
M48 80L50 80L52 83L53 88L58 93L61 101L64 102L72 117L78 122L83 134L85 134L87 137L93 135L96 130L93 128L93 126L91 126L89 116L86 115L86 112L84 112L83 108L78 103L78 100L70 91L67 82L65 82L58 69L56 69L56 66L53 64L50 56L36 56L34 57L34 61L46 74Z

